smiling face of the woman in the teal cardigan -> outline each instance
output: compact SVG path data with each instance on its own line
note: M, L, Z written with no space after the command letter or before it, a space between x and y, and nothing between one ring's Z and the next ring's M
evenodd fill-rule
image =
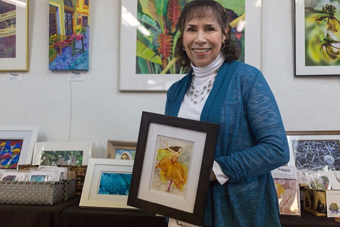
M183 45L195 67L213 62L225 40L221 26L212 17L193 18L184 26Z

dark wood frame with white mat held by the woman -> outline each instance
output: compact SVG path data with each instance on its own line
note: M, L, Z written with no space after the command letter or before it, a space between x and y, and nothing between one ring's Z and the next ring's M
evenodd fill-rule
M218 128L219 125L214 123L143 112L127 205L201 225L213 166ZM155 171L155 164L160 150L157 150L159 144L157 141L159 141L160 137L168 137L170 138L169 141L174 141L174 144L177 141L178 144L191 141L192 145L195 145L192 146L192 155L189 158L188 182L185 189L183 189L188 192L187 197L171 194L169 190L162 191L152 188L152 178L158 174ZM174 147L167 146L167 148ZM190 149L184 146L181 154L186 155L189 153L188 150ZM180 158L178 160L180 161ZM199 174L195 172L195 168ZM196 180L194 180L195 178ZM156 183L161 183L161 181L156 181ZM171 183L169 185L171 187ZM184 203L184 206L177 204L177 198L179 198L178 201ZM189 208L185 208L187 204L191 204L191 207L189 205Z

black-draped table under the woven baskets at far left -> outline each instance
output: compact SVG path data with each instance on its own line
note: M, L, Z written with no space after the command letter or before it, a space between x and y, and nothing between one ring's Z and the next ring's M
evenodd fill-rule
M79 198L49 205L0 204L1 226L53 226L62 210L79 204Z

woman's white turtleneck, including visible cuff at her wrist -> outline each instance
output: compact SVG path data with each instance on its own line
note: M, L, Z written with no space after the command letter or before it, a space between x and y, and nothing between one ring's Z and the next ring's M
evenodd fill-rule
M193 84L195 86L195 89L202 90L204 86L208 86L209 81L214 80L213 77L216 76L216 71L222 66L223 62L224 57L221 53L217 56L217 58L213 62L209 64L209 66L206 67L201 68L195 67L191 62L191 67L195 74L195 80ZM200 114L202 112L203 106L205 105L208 99L209 93L205 96L205 98L202 101L200 100L202 96L204 96L205 94L198 96L198 99L195 99L198 103L194 104L191 101L190 90L191 88L188 89L184 96L180 110L178 112L178 117L199 120ZM220 184L224 184L225 182L228 181L229 178L223 174L220 165L216 161L214 161L213 172Z

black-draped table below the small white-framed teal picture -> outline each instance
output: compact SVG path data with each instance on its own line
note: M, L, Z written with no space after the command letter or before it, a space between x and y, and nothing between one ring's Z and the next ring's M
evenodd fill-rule
M164 216L142 210L79 208L63 210L54 226L166 227Z

